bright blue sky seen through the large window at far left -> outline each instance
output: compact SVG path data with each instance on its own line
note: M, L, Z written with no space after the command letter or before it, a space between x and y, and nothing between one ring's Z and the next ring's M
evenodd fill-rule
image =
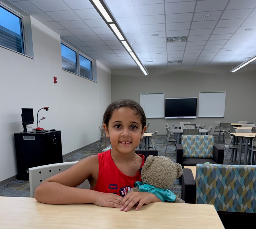
M0 25L20 34L20 18L0 7Z

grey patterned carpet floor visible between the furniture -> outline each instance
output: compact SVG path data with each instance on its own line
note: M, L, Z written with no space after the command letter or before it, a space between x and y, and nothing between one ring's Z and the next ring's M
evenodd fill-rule
M158 150L158 156L166 156L168 158L170 158L172 161L175 162L175 144L173 142L170 142L168 144L168 149L166 151L166 155L164 155L165 153L165 149L166 149L166 144L164 145L164 136L157 136L156 140L155 140L155 146L156 146L156 150ZM217 137L214 136L214 142L217 142ZM224 146L224 143L221 142L219 143L220 146ZM83 158L86 158L90 155L95 155L100 153L105 146L101 146L100 150L98 150L99 147L99 143L94 144L84 150L81 150L75 154L72 154L66 158L63 158L63 162L68 162L68 161L80 161ZM230 155L230 153L229 153ZM224 158L226 157L226 151L225 151L225 155ZM242 154L242 164L243 164L243 160L244 160L244 154ZM226 160L226 164L231 164L231 165L237 165L238 161L231 161L230 157L227 157ZM19 183L20 182L20 183ZM7 186L4 185L4 186ZM30 191L29 191L29 181L19 181L19 180L15 180L15 181L11 181L8 185L8 187L4 187L4 186L0 186L0 196L8 196L8 197L30 197ZM177 197L181 197L181 179L176 179L175 183L173 184L173 186L170 188L170 190L177 196Z

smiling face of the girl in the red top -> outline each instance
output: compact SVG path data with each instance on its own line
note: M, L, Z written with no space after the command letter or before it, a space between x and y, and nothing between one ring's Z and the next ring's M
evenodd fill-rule
M103 124L113 150L123 154L134 152L140 139L143 138L147 127L142 126L139 115L134 113L135 111L128 107L119 108L113 111L108 128L106 124Z

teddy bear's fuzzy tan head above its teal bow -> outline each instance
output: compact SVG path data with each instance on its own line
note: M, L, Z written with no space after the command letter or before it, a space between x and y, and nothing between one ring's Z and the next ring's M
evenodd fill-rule
M148 156L141 170L142 183L159 189L169 189L181 175L180 164L161 156Z

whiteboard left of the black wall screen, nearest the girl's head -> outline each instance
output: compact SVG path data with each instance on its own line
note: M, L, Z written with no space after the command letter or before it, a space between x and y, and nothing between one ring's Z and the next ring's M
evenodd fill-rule
M146 118L164 118L164 93L141 93L140 105Z

